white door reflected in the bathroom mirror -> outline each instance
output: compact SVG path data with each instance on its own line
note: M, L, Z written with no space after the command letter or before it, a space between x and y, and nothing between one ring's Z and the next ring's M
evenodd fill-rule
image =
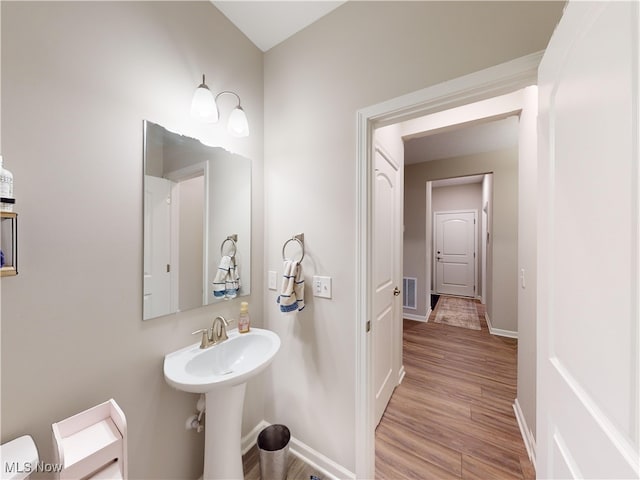
M171 305L171 185L145 175L143 319L173 312Z

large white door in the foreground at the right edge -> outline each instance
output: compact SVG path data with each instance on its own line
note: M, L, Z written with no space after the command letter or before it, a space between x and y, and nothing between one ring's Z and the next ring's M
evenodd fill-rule
M638 3L571 2L539 69L539 478L639 478Z

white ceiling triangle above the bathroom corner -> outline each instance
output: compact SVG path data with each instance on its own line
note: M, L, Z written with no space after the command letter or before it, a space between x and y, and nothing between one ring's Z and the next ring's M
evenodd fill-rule
M211 3L266 52L345 2L211 0Z

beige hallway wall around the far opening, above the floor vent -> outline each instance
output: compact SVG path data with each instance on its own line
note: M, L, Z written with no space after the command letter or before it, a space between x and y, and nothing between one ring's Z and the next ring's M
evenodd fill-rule
M463 157L433 160L405 167L405 205L415 204L413 220L407 223L405 274L424 278L425 206L416 202L424 198L426 182L443 178L493 173L493 222L490 248L493 250L488 265L487 283L491 295L487 298L487 312L493 327L517 332L517 251L518 251L518 150L465 155ZM408 193L411 192L411 193ZM406 218L406 217L405 217ZM415 274L412 272L415 271ZM422 280L420 280L422 281Z

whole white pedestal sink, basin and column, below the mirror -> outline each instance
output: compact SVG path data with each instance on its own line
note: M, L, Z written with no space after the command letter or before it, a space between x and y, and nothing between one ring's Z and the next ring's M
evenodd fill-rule
M206 399L204 480L241 479L242 407L246 382L262 372L280 348L270 330L229 332L229 339L201 349L196 343L164 357L164 378L178 390Z

